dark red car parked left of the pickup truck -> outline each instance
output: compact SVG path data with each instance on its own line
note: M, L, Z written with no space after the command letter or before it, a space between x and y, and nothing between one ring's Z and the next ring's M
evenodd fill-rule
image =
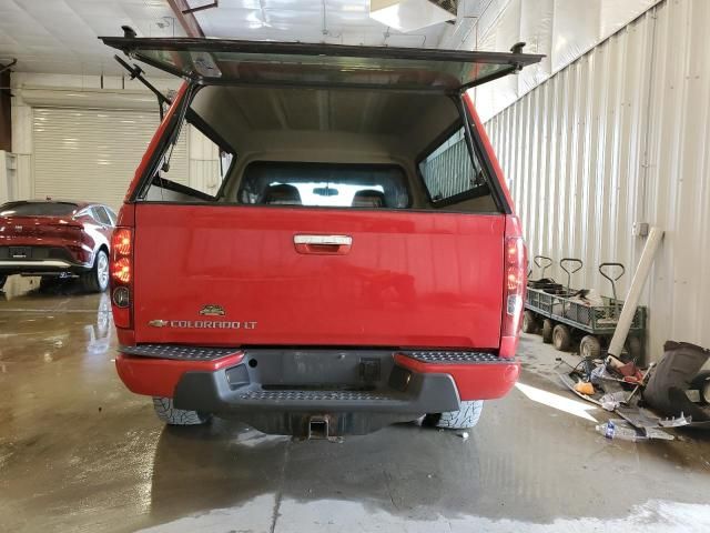
M0 205L0 289L9 275L42 282L78 278L90 292L109 286L109 253L116 215L89 202L29 200Z

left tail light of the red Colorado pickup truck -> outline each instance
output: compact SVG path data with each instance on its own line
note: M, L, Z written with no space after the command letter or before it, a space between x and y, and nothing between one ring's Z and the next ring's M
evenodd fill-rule
M118 328L131 328L133 305L133 230L116 228L111 235L111 302Z

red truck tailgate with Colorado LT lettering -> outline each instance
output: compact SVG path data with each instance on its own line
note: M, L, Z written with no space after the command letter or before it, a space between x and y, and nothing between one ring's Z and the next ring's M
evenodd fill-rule
M495 349L503 215L136 204L136 342ZM296 235L352 245L303 253Z

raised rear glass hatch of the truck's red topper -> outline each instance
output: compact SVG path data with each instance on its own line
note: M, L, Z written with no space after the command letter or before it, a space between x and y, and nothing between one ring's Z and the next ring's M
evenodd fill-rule
M202 83L454 92L515 72L542 58L508 52L225 39L101 39L148 64Z

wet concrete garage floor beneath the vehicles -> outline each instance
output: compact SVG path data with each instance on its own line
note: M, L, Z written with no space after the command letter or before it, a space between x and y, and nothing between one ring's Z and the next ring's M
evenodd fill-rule
M521 386L468 439L395 425L292 442L166 429L113 368L106 295L0 293L0 531L708 531L710 439L608 441L521 343ZM575 355L569 355L575 360ZM554 404L555 406L552 406Z

